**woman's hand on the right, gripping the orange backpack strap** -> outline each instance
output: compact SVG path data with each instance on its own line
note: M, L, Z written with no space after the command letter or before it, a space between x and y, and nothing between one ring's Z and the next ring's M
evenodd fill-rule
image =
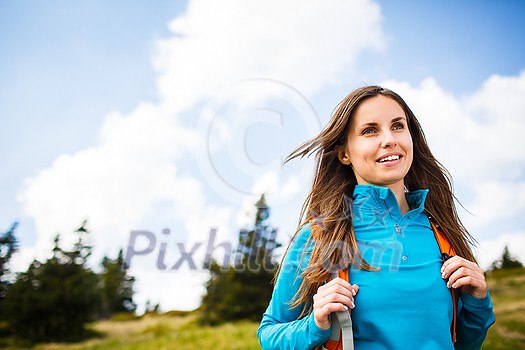
M443 263L441 277L448 279L449 288L461 288L463 293L476 298L487 296L487 283L483 270L476 263L460 256L453 256Z

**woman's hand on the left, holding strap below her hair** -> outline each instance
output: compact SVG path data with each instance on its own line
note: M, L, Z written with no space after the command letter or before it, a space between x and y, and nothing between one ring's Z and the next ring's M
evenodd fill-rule
M342 278L335 278L317 289L314 295L314 320L317 327L329 329L330 314L335 311L353 309L354 296L359 291L357 284L350 285Z

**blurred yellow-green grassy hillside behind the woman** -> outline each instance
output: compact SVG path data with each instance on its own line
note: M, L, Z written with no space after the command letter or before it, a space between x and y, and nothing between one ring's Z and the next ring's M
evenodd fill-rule
M483 349L525 349L525 269L488 274L496 311L496 324ZM253 322L201 327L194 315L145 316L128 321L102 321L92 325L100 334L79 344L44 344L35 350L250 350L260 349ZM0 345L1 348L1 345ZM8 347L9 349L20 349Z

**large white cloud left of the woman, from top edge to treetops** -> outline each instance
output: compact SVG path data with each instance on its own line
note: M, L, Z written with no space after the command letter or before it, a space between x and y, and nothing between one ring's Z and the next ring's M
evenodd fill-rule
M178 259L176 242L187 247L204 242L211 227L218 228L220 240L230 239L236 231L232 214L239 209L228 198L213 197L208 175L196 170L194 159L192 163L192 156L209 152L206 134L196 129L195 117L203 113L202 104L239 80L264 78L283 82L281 87L286 88L257 85L245 93L241 107L250 110L250 103L258 103L253 107L257 109L262 100L280 98L301 116L305 109L294 104L290 89L311 97L340 74L351 74L361 52L383 50L385 44L379 7L366 0L194 0L185 14L170 23L170 29L173 36L159 42L154 57L161 102L139 103L126 115L110 113L92 147L58 157L48 169L26 180L19 198L34 219L38 235L35 246L25 252L37 257L49 251L57 232L71 243L74 237L69 233L86 218L99 256L115 254L125 246L130 230L151 231L157 239L154 252L137 258L140 264L132 263L131 273L139 281L137 300L161 302L164 309L189 309L198 305L206 274L156 271L159 244L167 245L169 266ZM279 107L274 111L279 112ZM282 139L286 131L297 127L286 125L286 118L283 123L277 128ZM232 137L239 135L229 125L219 127L222 137L212 149L236 142ZM308 125L301 127L308 129ZM248 125L241 136L250 130ZM256 144L248 142L245 147L253 152L249 156L254 158L247 158L253 164L276 164L272 161L280 156L272 153L268 161L264 152L255 150ZM227 153L223 158L237 156ZM242 165L236 163L239 159L227 161ZM260 169L264 171L257 175L282 171ZM254 190L283 189L275 198L297 192L296 178L272 176L263 176ZM248 179L243 188L252 188L253 181ZM165 227L173 231L169 241L163 241L168 239L161 234Z

